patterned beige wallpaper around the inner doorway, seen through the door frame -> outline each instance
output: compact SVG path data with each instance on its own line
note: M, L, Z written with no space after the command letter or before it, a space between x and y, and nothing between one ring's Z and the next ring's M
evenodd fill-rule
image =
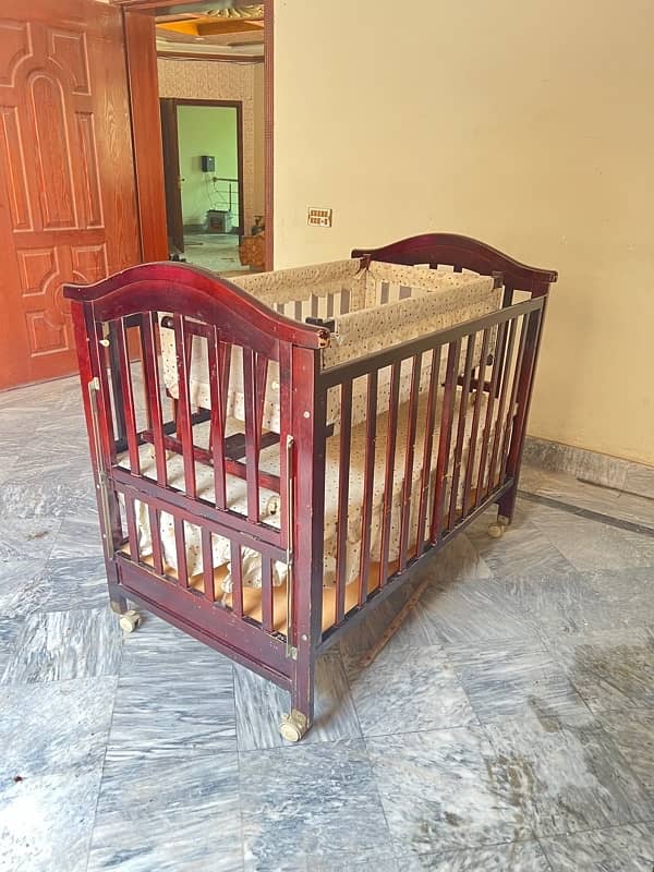
M250 233L255 204L254 64L184 61L159 58L159 96L196 100L241 100L243 104L243 210Z

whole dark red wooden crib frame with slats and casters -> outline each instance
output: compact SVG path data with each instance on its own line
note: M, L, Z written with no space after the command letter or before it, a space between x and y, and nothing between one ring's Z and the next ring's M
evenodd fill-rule
M145 606L195 639L227 654L291 694L291 711L282 720L284 738L296 740L313 720L314 671L317 657L343 632L361 620L370 609L408 581L423 559L438 550L463 530L491 504L499 508L499 526L510 523L516 502L525 425L542 336L547 294L557 274L520 264L491 246L453 234L431 233L376 250L354 250L353 257L365 265L371 258L396 264L428 264L432 268L449 265L457 271L470 269L483 275L497 274L505 287L502 307L475 320L447 330L421 336L410 342L389 347L346 364L322 368L320 349L329 342L325 327L290 320L256 299L204 270L180 264L146 264L133 267L88 287L69 286L64 295L71 301L78 352L84 409L89 435L93 471L111 607L126 621L134 613L128 598ZM518 291L529 299L514 303ZM178 347L179 401L175 419L165 421L164 401L157 363L158 322L156 313L171 314ZM195 411L189 395L190 338L206 341L211 374L211 410ZM143 361L147 425L138 426L130 360L134 358L137 337ZM485 360L491 338L495 354L489 371L475 372L472 351L482 342ZM226 367L231 348L243 349L245 396L244 436L225 436ZM445 367L437 366L441 350L447 349ZM463 354L463 352L465 353ZM425 457L436 449L436 485L429 489L428 464L423 464L420 494L411 494L417 383L424 355L432 355L433 366L427 396ZM459 361L464 359L463 372ZM262 404L269 361L279 362L280 434L279 476L259 471L262 448ZM402 362L412 367L408 415L405 465L399 559L389 565L388 540L392 476L395 475L395 437L386 445L386 487L383 512L382 549L378 566L373 568L368 547L371 523L371 470L375 458L366 453L365 499L362 510L361 572L356 603L346 607L344 550L346 524L338 526L336 571L336 621L323 628L323 512L325 453L328 428L326 397L339 386L341 427L338 436L341 457L347 461L351 438L352 383L364 377L367 384L366 444L375 444L376 385L378 374L390 367L389 433L395 432L399 414L398 384ZM513 363L511 363L513 361ZM512 366L512 372L509 370ZM438 370L440 368L440 372ZM488 376L485 377L485 374ZM460 396L474 392L470 407L473 434L481 435L480 472L473 475L473 460L462 462L464 422L459 413L457 431L455 403ZM433 444L438 391L443 398L438 445ZM487 399L482 415L480 398ZM461 416L463 415L463 426ZM209 421L209 450L194 444L193 426L197 420ZM501 425L501 426L500 426ZM173 435L174 434L174 435ZM270 444L269 435L264 436ZM413 441L412 441L413 440ZM140 473L138 448L150 444L157 459L157 479ZM411 443L411 444L409 444ZM449 458L453 462L448 472ZM126 451L130 470L121 467L117 455ZM184 488L167 482L166 451L183 458ZM348 507L348 463L340 464L339 519ZM215 505L195 493L195 463L208 463L215 475ZM231 511L225 504L225 476L238 475L246 483L247 511ZM388 482L387 482L388 484ZM461 506L457 492L462 485ZM279 529L259 517L259 488L280 494ZM449 504L447 492L449 488ZM390 496L388 496L390 494ZM453 495L453 496L452 496ZM120 497L120 499L119 499ZM134 519L134 500L147 506L153 534L153 554L141 559ZM409 513L411 500L419 505L415 542L411 541ZM121 500L123 507L121 509ZM160 513L173 519L178 542L178 570L168 571L161 559ZM185 524L202 531L204 567L202 590L193 585L186 571ZM213 535L231 543L233 592L226 605L216 590L211 562ZM262 555L261 617L253 619L244 609L241 573L242 548ZM288 567L286 616L288 629L276 629L271 569L274 561ZM207 567L209 567L207 569ZM377 573L373 583L372 572ZM132 617L131 617L132 616ZM135 620L135 619L134 619ZM134 622L133 620L133 622Z

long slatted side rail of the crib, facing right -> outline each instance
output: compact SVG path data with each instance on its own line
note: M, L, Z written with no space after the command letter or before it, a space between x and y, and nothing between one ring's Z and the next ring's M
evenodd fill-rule
M319 387L339 392L341 427L335 620L325 642L349 611L514 489L544 307L535 296L319 373ZM367 412L360 516L350 497L354 388ZM354 605L346 590L353 560Z

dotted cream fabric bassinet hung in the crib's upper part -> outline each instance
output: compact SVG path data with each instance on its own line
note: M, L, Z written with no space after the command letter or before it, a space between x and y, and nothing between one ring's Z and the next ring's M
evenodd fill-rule
M374 353L390 344L409 341L416 336L481 317L496 310L501 302L501 289L488 276L458 274L372 263L359 268L359 261L343 261L296 269L245 276L238 281L264 302L300 319L310 315L324 317L325 303L335 295L347 298L346 311L332 314L332 341L323 350L325 367L344 363L353 358ZM307 295L307 289L311 293ZM317 302L316 302L317 301ZM337 301L338 302L338 301ZM287 303L291 303L290 307ZM281 306L281 310L280 310ZM284 306L290 311L286 312ZM494 348L494 337L488 350ZM467 349L461 349L459 368L462 371ZM472 365L480 363L481 340L476 341ZM445 353L445 352L444 352ZM166 387L173 398L179 396L177 356L172 330L161 330L162 371ZM422 365L421 391L426 389L432 367L431 358ZM404 372L400 382L400 400L409 399L410 375ZM380 400L388 400L390 372L379 375ZM193 405L210 408L210 387L206 342L193 339L191 351L190 395ZM365 420L365 384L353 386L353 424ZM243 359L233 348L230 361L230 384L227 413L244 419ZM339 423L339 397L330 390L327 397L327 423ZM280 432L279 365L270 361L267 373L263 426Z

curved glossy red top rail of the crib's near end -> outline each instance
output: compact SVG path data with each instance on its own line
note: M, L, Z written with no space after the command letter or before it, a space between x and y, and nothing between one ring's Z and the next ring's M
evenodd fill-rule
M95 284L66 284L63 295L89 305L95 320L174 312L215 325L238 344L251 346L256 332L265 343L275 340L310 349L329 344L324 327L287 318L228 279L187 264L141 264Z

